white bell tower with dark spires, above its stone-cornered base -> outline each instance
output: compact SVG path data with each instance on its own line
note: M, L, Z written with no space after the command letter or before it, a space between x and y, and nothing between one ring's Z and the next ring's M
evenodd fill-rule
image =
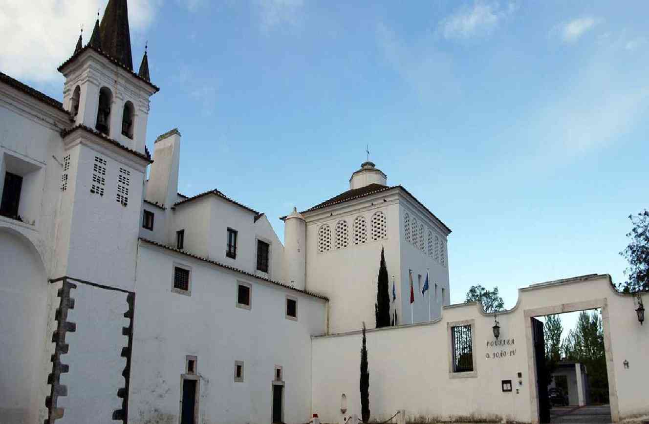
M126 0L109 0L86 45L79 37L60 67L66 78L64 178L56 249L58 275L131 290L143 182L151 84L144 53L133 71ZM110 257L110 261L105 258Z

